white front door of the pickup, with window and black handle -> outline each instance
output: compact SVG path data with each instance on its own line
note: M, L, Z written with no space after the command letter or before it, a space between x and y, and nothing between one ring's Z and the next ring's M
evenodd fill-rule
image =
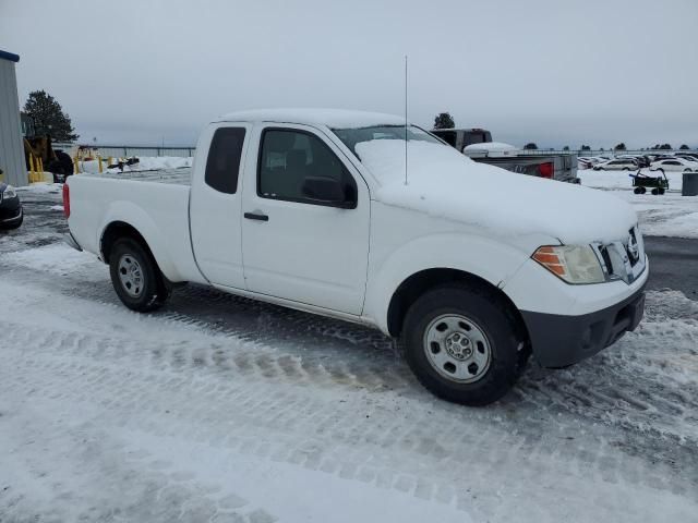
M243 190L248 290L361 314L369 257L365 182L320 131L275 124L255 134ZM341 202L309 196L309 178L341 187Z

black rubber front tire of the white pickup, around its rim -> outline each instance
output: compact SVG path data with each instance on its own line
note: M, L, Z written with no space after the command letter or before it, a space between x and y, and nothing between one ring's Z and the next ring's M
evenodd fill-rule
M476 381L446 378L435 369L433 356L428 355L428 351L435 354L426 343L428 330L435 323L438 330L438 318L445 315L466 317L489 341L489 366ZM530 354L525 338L509 305L494 292L452 283L428 291L411 305L405 317L401 344L407 363L426 389L444 400L479 406L498 400L517 381Z

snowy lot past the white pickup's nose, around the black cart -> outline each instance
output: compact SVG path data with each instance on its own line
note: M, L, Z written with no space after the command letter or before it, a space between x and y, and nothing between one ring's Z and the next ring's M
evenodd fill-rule
M666 173L670 190L661 196L634 194L628 172L586 169L578 174L582 185L610 191L630 203L639 215L645 234L698 239L698 196L681 195L681 172Z

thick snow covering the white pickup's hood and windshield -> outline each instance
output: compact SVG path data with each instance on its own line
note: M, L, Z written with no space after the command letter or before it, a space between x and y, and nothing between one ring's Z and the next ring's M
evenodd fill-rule
M375 199L493 231L547 234L565 244L625 240L637 223L630 206L601 191L477 163L428 142L373 139L356 146L378 179Z

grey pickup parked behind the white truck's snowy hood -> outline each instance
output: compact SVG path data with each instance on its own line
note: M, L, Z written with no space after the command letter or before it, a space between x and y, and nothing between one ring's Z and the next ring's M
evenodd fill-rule
M440 137L470 159L507 171L547 178L561 182L579 183L577 156L527 151L509 144L492 142L492 133L484 129L434 129Z

